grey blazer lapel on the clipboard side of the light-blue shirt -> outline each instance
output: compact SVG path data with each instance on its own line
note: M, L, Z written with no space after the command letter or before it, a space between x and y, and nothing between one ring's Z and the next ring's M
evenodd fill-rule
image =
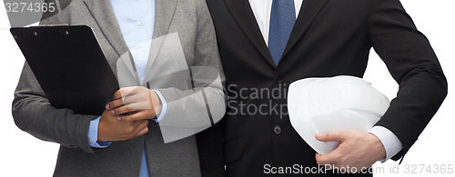
M85 0L84 3L91 15L95 18L101 33L106 36L107 41L112 45L116 54L118 54L119 59L123 60L127 70L135 77L136 82L140 83L139 76L136 72L136 65L134 64L133 57L129 54L128 46L116 21L116 15L110 1Z

